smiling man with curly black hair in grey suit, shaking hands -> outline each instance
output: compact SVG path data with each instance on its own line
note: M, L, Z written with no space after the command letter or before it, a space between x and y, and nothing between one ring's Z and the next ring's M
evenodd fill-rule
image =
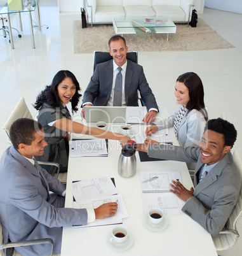
M222 231L239 197L241 178L230 152L236 136L234 125L218 118L208 121L199 147L150 144L137 148L149 157L198 161L195 188L187 190L173 180L170 190L186 202L182 211L213 235Z

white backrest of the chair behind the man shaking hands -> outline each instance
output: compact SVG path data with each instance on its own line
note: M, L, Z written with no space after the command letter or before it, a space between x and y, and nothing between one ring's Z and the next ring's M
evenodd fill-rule
M239 156L238 150L234 150L232 154L232 158L234 159L234 163L238 169L241 181L242 181L242 160ZM232 211L231 216L229 217L229 220L227 220L227 227L228 229L236 230L236 222L239 220L239 218L242 216L242 186L240 188L239 193L239 200L234 208L234 211Z

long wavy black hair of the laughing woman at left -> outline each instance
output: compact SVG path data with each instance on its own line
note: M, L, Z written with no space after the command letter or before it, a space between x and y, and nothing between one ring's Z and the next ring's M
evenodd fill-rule
M39 110L44 103L47 103L55 108L60 106L60 98L58 96L57 87L67 77L71 78L72 82L76 86L76 92L71 99L71 106L73 111L77 111L77 104L79 102L79 97L81 97L79 90L81 89L76 76L74 76L74 74L68 70L58 71L58 73L54 76L51 85L47 85L46 88L37 96L36 103L33 105L34 108Z

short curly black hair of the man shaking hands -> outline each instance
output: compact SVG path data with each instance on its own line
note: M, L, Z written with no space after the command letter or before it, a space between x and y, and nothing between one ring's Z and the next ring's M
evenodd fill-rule
M234 146L237 138L237 131L234 125L227 122L222 118L211 119L205 127L206 130L211 130L223 134L224 136L224 146Z

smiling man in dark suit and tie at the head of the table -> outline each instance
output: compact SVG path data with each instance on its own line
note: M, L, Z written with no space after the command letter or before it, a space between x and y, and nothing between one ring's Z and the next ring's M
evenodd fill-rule
M83 96L83 106L138 106L137 90L147 107L143 122L151 123L158 113L158 105L147 83L142 66L126 59L128 46L123 36L109 39L109 53L113 60L97 64ZM116 77L121 68L120 102L116 102ZM118 76L117 76L118 75ZM84 111L83 111L84 115Z

